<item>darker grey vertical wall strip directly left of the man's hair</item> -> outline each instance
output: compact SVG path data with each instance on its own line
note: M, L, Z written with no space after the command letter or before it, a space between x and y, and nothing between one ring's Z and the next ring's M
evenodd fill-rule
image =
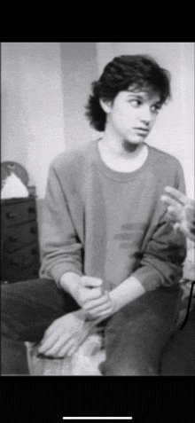
M85 117L90 84L98 78L96 43L59 43L67 150L98 137Z

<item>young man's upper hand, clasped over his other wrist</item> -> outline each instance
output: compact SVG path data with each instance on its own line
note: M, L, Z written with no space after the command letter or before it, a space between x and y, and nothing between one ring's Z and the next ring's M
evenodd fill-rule
M65 273L60 286L74 297L90 318L107 317L112 313L113 304L107 292L103 292L103 281L99 278Z

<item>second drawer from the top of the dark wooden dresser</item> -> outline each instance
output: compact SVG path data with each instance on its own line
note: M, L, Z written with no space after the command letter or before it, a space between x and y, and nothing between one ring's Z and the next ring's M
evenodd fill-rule
M7 228L4 234L3 252L12 253L20 248L31 244L37 239L37 223L28 222Z

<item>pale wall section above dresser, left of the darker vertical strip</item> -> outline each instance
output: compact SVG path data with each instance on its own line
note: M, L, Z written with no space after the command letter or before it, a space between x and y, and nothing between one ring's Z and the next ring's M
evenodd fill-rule
M58 43L2 43L2 157L27 169L43 197L51 159L65 150Z

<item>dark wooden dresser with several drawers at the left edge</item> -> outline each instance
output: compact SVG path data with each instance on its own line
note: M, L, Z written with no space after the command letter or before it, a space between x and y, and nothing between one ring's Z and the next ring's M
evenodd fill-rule
M35 197L1 200L1 284L38 278Z

